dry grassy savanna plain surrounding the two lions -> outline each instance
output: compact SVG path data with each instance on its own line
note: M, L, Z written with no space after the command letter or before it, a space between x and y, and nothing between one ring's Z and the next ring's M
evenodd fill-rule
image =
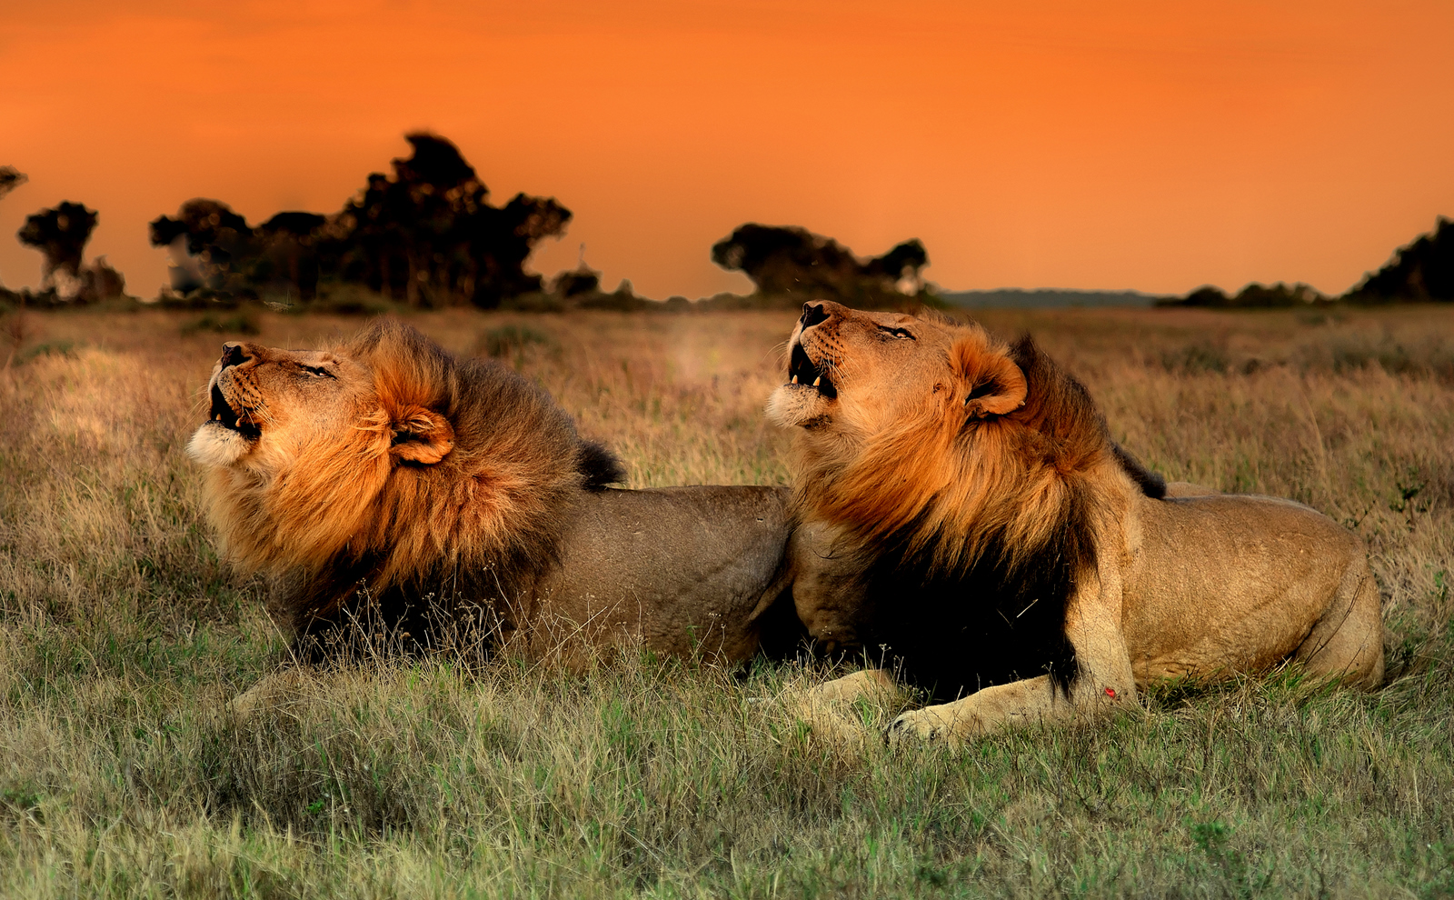
M630 487L785 484L794 313L420 313L542 384ZM1173 685L1114 718L829 743L807 663L446 657L225 711L285 657L182 448L220 343L358 318L29 313L0 329L0 894L1454 896L1454 310L992 313L1168 478L1368 542L1390 676ZM1214 602L1214 598L1208 598ZM900 711L853 711L881 728ZM903 701L912 702L912 701Z

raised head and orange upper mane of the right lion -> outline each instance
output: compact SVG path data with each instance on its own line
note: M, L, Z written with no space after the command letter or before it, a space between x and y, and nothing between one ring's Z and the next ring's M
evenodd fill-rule
M814 301L788 342L771 419L800 427L798 500L861 545L973 564L995 542L1029 560L1086 510L1086 480L1154 490L1089 394L1028 337Z

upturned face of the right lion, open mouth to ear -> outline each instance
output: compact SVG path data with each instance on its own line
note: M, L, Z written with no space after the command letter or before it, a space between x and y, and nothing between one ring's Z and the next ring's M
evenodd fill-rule
M849 443L909 423L999 416L1025 400L1024 374L981 329L829 301L804 304L787 375L768 416Z

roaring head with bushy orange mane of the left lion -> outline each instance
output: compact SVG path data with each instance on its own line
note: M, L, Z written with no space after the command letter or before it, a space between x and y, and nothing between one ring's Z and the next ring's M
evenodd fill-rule
M188 452L209 519L238 566L273 576L388 587L548 560L573 491L619 475L544 391L397 321L326 350L227 343L206 390Z

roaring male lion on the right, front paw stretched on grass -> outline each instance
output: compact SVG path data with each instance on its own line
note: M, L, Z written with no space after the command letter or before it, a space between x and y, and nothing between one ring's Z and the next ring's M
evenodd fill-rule
M819 698L878 689L891 669L954 701L891 736L958 740L1281 660L1383 676L1357 537L1290 500L1166 496L1028 337L810 302L768 414L801 429L798 616L884 663Z

